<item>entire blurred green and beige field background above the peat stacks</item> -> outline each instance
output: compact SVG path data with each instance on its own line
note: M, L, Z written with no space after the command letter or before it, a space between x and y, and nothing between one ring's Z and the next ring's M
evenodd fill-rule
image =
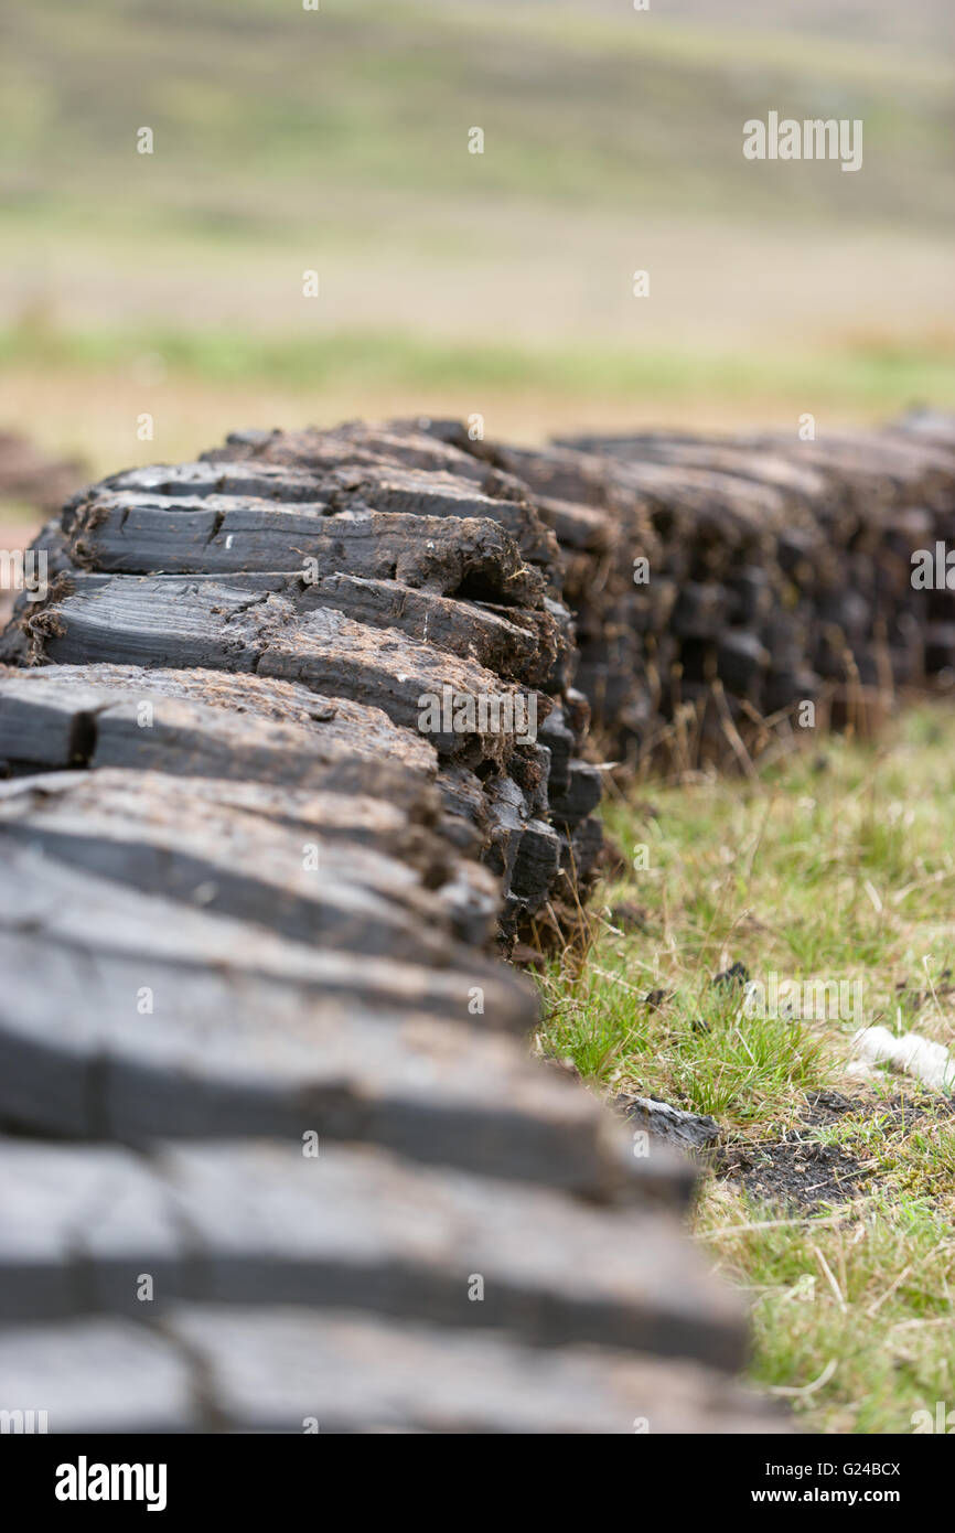
M92 475L357 414L540 438L955 406L952 25L950 0L6 0L0 423ZM770 109L861 118L863 169L745 161Z

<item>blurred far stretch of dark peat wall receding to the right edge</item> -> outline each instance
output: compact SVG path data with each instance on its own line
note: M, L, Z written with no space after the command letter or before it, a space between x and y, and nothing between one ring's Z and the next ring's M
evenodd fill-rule
M811 442L653 432L540 451L417 425L529 486L561 546L576 685L616 751L653 757L681 711L704 759L742 756L805 702L871 728L895 690L950 676L952 592L914 581L914 555L955 533L944 417Z

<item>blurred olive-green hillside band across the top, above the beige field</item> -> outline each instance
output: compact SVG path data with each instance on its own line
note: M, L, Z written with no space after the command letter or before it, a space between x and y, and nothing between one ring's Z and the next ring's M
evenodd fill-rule
M477 170L478 196L786 215L793 199L843 213L848 198L852 216L950 222L943 51L503 3L323 0L310 15L288 0L87 0L80 21L67 0L14 0L6 14L0 143L18 179L78 205L109 178L117 222L155 192L196 216L196 189L245 208L250 181L300 222L320 218L316 187L417 201ZM739 152L754 103L865 118L869 175L851 193L825 167L754 175ZM472 123L480 166L463 153ZM139 124L156 132L149 164L132 155Z

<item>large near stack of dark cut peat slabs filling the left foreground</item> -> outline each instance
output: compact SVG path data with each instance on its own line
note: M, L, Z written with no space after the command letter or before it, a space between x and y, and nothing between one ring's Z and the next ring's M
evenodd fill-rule
M0 1407L773 1430L690 1170L527 1055L492 957L592 855L552 537L353 438L97 486L5 636ZM445 687L550 711L422 733Z

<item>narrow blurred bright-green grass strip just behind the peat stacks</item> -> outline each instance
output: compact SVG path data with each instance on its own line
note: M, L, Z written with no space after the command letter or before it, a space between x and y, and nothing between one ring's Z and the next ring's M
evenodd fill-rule
M176 376L212 385L254 383L323 389L336 383L391 386L434 396L460 388L553 399L636 400L661 405L719 392L720 400L805 400L816 408L891 412L914 400L955 406L955 369L934 346L858 342L831 353L762 351L701 354L607 346L527 346L507 342L440 340L380 331L267 336L242 330L61 330L21 323L0 330L0 366L78 376L129 368L158 356Z

